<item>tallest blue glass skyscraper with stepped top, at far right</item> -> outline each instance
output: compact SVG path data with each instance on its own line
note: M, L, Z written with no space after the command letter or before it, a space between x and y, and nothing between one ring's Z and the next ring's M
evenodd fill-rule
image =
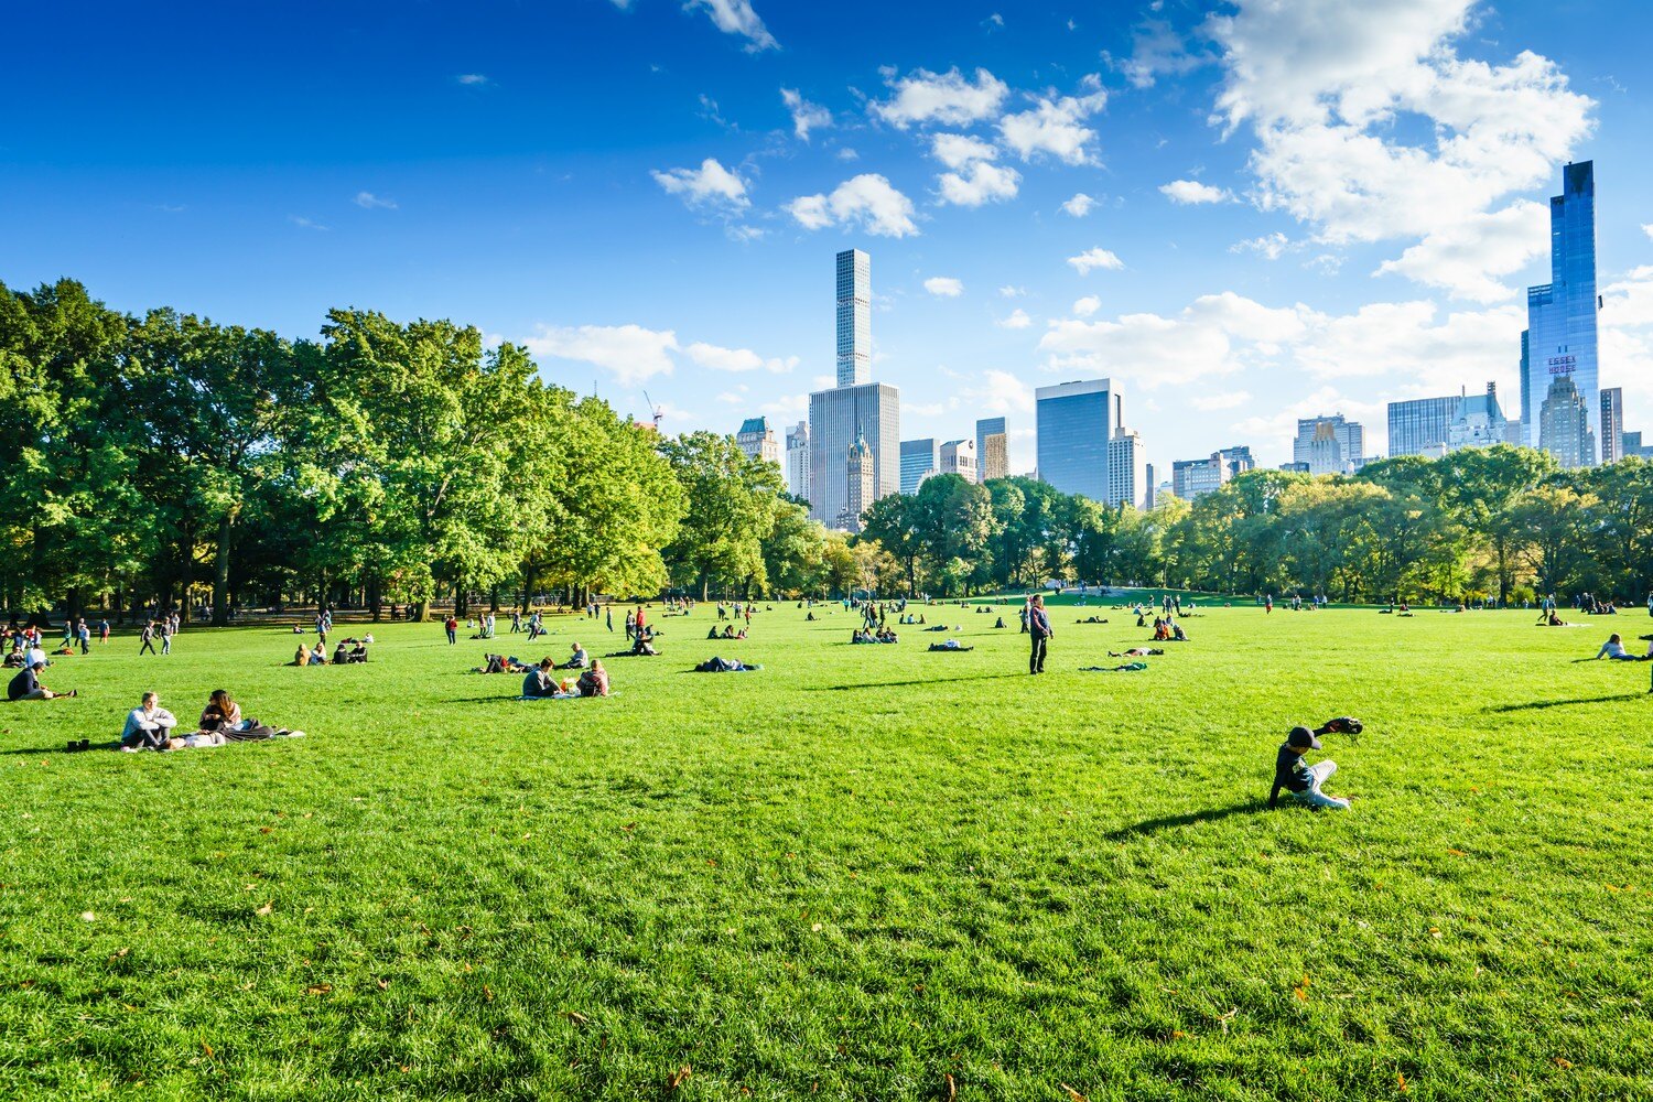
M1593 439L1603 439L1600 398L1597 397L1595 314L1595 162L1582 160L1562 170L1562 193L1551 198L1551 281L1527 287L1527 349L1521 397L1527 403L1521 420L1529 448L1544 448L1557 456L1570 454L1579 439L1574 425L1565 423L1567 438L1546 441L1544 411L1532 401L1549 405L1552 380L1572 378L1572 388L1584 401ZM1565 463L1565 461L1564 461ZM1593 466L1595 453L1582 464Z

